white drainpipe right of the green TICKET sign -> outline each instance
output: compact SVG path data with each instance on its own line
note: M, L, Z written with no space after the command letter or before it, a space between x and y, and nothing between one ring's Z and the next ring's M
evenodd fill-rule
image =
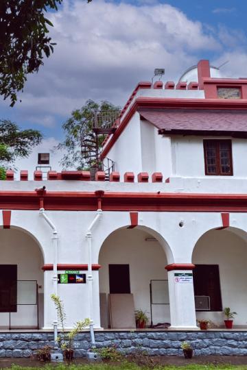
M86 232L86 240L88 244L88 253L89 253L89 266L88 266L88 275L87 280L89 282L89 314L90 314L90 334L91 334L91 341L93 347L95 347L95 335L93 332L93 274L92 274L92 229L94 225L99 221L100 217L102 217L102 210L98 209L93 222L89 226Z

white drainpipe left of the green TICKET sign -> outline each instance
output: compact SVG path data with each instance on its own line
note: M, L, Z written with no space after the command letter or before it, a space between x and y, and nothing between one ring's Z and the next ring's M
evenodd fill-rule
M52 277L52 280L54 282L54 294L58 295L58 232L56 230L56 226L54 223L51 222L49 217L47 217L47 214L45 214L45 209L40 208L39 210L40 215L45 219L45 221L48 223L49 227L51 227L52 230L52 244L54 247L54 275ZM55 313L55 319L53 321L54 324L54 342L57 345L58 344L58 313Z

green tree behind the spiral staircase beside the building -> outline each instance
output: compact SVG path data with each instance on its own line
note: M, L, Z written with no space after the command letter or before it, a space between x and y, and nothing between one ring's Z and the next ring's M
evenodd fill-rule
M98 164L100 151L105 135L93 132L95 112L110 112L119 110L109 101L100 104L89 99L82 108L73 110L71 117L62 125L65 139L57 149L64 150L61 164L64 168L89 169Z

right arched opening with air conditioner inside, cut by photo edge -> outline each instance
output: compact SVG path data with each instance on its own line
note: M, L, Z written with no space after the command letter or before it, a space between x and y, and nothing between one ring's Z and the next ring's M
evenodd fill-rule
M246 326L247 233L235 227L209 230L193 249L197 319L224 327L226 307L237 312L235 325ZM209 297L209 298L207 298Z

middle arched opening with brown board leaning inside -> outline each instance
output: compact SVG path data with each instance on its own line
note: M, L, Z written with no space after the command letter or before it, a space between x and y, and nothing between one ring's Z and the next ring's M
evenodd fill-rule
M170 322L167 256L158 238L146 227L122 227L104 240L99 251L103 328L136 328L134 310L143 310L149 325ZM128 319L123 318L127 310Z

